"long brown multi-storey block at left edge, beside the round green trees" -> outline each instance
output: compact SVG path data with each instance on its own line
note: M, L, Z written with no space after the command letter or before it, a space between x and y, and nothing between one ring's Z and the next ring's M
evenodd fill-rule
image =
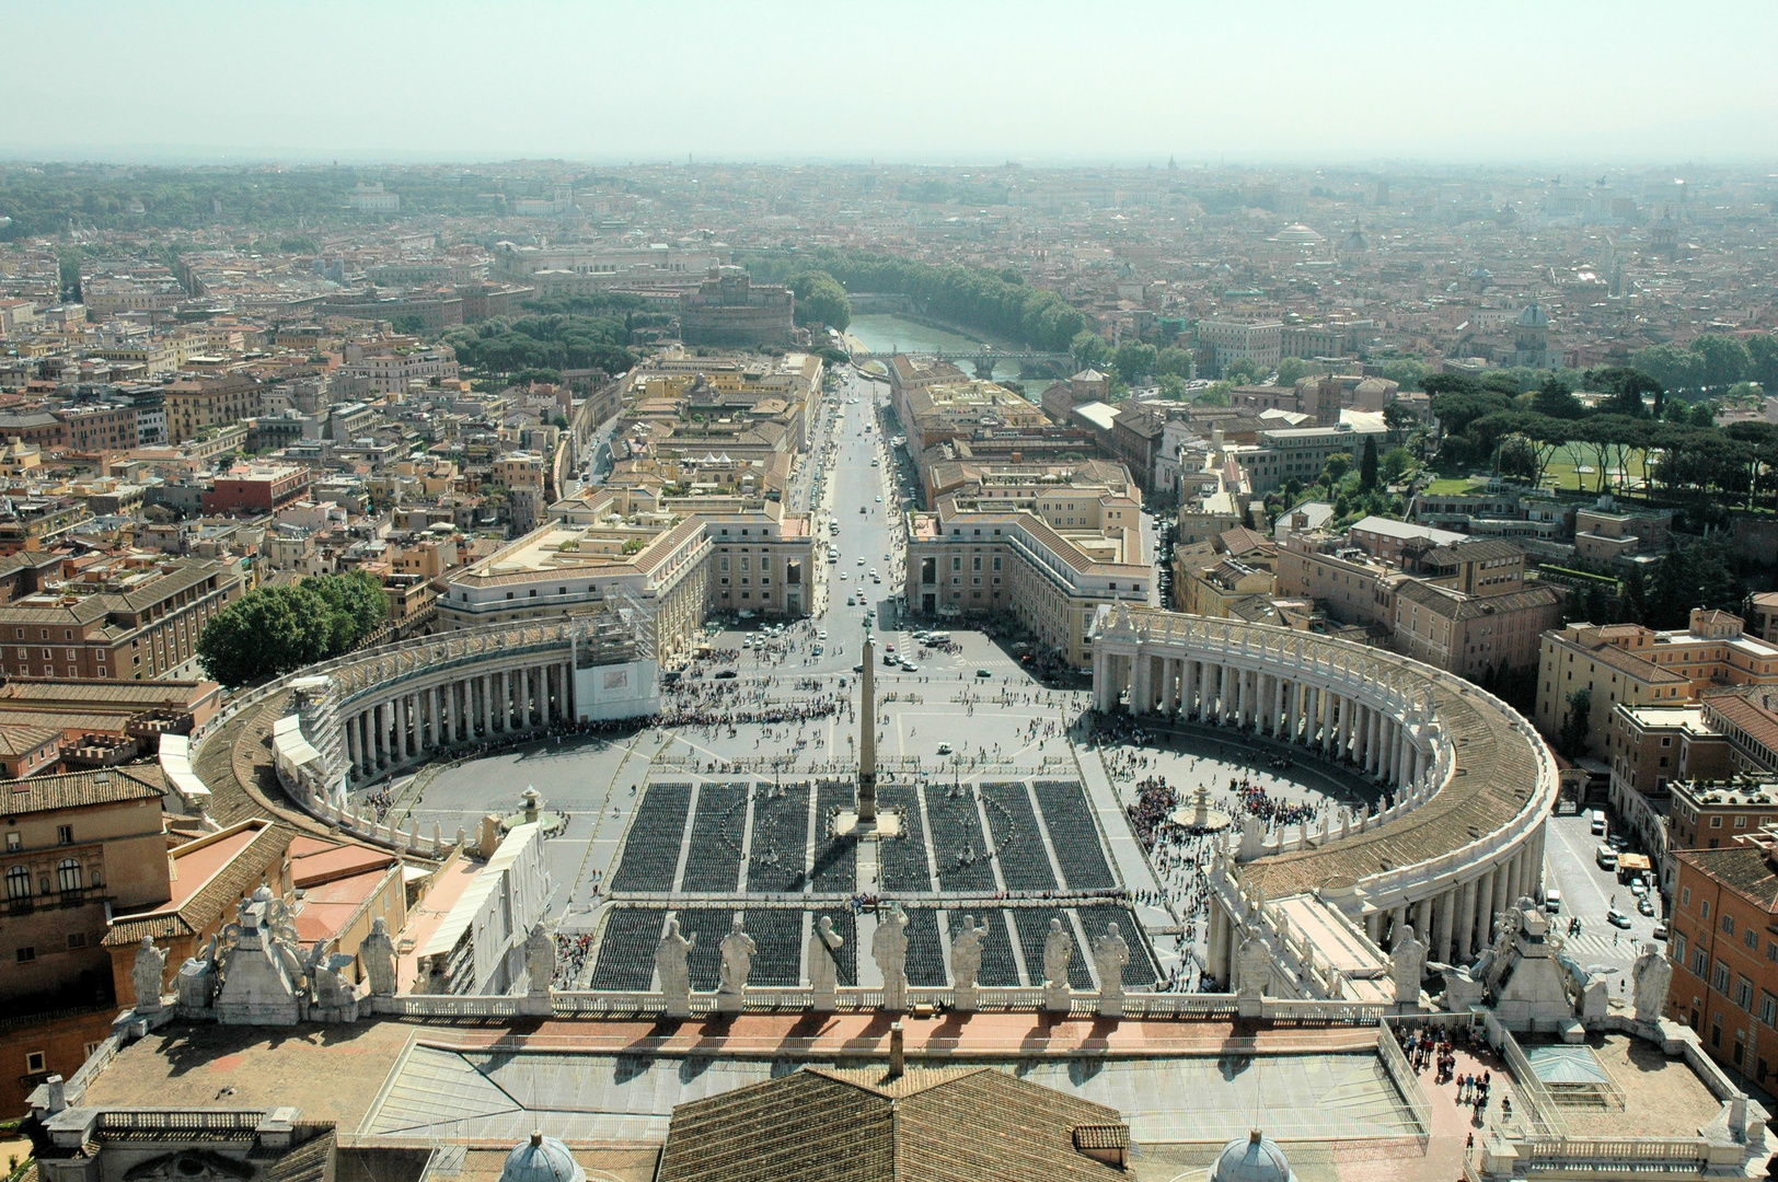
M68 681L139 681L197 672L210 617L245 590L238 558L180 558L117 569L0 604L0 668Z

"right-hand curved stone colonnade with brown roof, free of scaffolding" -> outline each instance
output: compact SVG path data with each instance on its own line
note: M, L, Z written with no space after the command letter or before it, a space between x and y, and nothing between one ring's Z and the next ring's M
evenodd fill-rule
M1374 949L1412 926L1430 958L1467 963L1515 899L1542 892L1556 761L1517 711L1460 677L1284 627L1120 606L1095 622L1093 686L1101 711L1252 729L1396 793L1378 825L1298 843L1248 832L1218 860L1218 979L1243 935L1273 926L1266 899L1316 894Z

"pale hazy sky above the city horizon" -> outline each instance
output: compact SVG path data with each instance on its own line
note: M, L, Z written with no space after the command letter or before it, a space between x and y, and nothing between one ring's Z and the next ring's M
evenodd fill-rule
M1778 0L0 0L0 155L1778 162Z

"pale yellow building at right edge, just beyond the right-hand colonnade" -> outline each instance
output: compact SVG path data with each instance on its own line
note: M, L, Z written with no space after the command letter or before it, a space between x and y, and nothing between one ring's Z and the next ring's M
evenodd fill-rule
M1586 755L1609 761L1611 713L1630 706L1698 702L1712 686L1778 683L1778 647L1742 635L1726 611L1694 608L1686 629L1641 624L1568 624L1538 645L1538 704L1533 722L1556 734L1577 693L1586 691Z

